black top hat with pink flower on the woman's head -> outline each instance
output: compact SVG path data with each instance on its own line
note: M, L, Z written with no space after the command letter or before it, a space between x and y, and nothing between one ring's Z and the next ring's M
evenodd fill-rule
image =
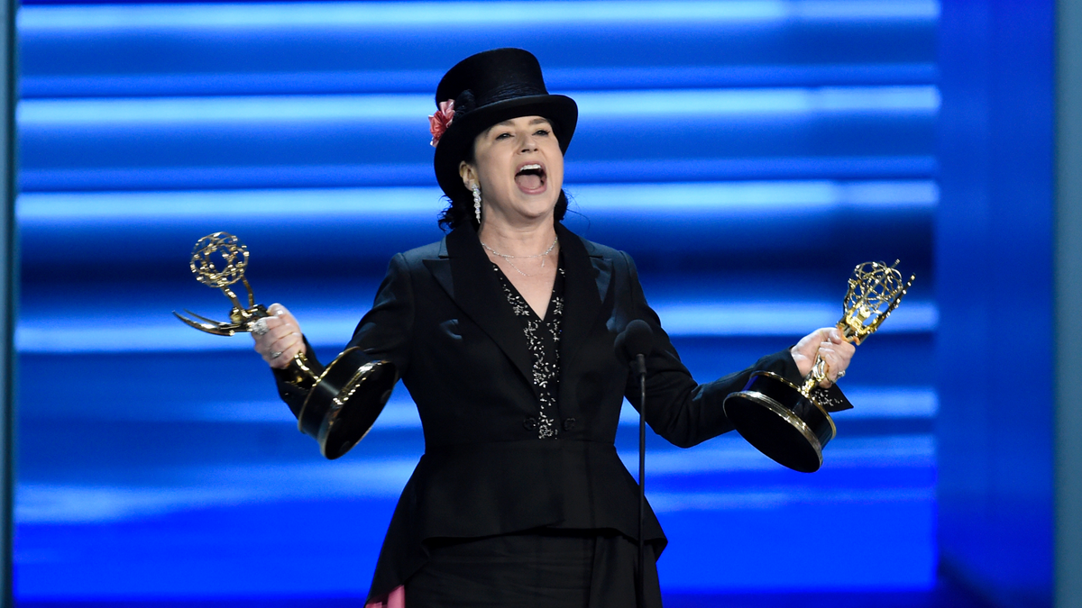
M459 163L481 131L512 118L540 116L552 123L566 153L579 119L575 101L550 95L537 57L523 49L494 49L459 62L436 88L436 106L448 100L454 101L454 118L438 138L434 164L436 181L451 200L470 196Z

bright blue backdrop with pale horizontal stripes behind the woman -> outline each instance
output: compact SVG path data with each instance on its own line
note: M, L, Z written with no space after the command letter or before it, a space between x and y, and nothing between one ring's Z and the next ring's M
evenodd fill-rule
M531 50L581 118L567 223L635 256L701 380L833 325L866 260L909 299L846 378L817 474L650 440L665 593L935 584L938 3L27 4L16 590L25 602L357 597L423 451L405 391L328 463L187 268L216 230L325 357L440 237L441 74ZM633 410L628 408L633 413ZM626 412L625 412L626 413ZM621 426L635 458L632 417Z

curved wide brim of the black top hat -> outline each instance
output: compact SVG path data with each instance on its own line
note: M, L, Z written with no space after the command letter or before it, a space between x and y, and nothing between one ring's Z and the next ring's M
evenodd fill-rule
M459 175L459 164L465 160L474 140L489 127L520 116L549 119L559 143L559 151L567 153L579 120L579 106L575 100L566 95L530 95L489 104L461 118L456 116L439 138L433 164L444 194L451 200L470 194Z

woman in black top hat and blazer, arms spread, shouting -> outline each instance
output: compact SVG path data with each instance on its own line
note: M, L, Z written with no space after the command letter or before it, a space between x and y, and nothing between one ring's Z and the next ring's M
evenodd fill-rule
M351 345L391 360L417 402L425 453L392 518L369 602L628 607L636 603L637 487L613 447L638 391L616 336L652 329L647 421L690 447L730 431L722 401L755 370L793 382L816 355L828 381L854 347L833 328L697 384L650 309L631 259L560 224L564 153L578 118L530 53L499 49L452 67L431 118L451 204L443 241L391 261ZM255 349L280 370L307 352L275 304ZM278 372L294 413L304 392ZM665 538L647 515L646 606L660 606Z

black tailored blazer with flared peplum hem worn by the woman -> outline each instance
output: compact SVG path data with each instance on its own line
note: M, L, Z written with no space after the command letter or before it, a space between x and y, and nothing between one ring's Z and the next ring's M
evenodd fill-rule
M519 321L475 230L392 259L351 346L395 364L417 404L425 453L395 508L369 599L403 584L425 560L424 542L538 527L607 529L637 539L637 486L613 441L624 396L638 387L613 349L634 319L654 330L647 422L679 447L730 431L722 401L755 370L799 382L788 351L697 384L646 303L628 254L557 224L565 268L559 342L559 438L539 439L538 396ZM304 394L279 380L294 414ZM646 540L665 538L654 513Z

